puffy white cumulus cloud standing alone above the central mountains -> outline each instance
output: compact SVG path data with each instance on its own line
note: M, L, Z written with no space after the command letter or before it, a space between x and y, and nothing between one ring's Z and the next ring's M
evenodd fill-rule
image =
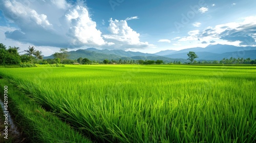
M148 44L148 42L140 41L140 34L134 31L128 26L126 20L109 20L109 31L111 34L102 35L106 41L115 43L113 45L114 49L130 49L131 47L137 49L145 49L146 47L154 46L153 44Z

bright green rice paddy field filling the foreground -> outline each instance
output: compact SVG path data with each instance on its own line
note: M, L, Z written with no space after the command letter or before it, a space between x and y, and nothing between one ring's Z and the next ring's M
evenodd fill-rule
M37 104L99 142L253 142L255 73L255 66L0 68Z

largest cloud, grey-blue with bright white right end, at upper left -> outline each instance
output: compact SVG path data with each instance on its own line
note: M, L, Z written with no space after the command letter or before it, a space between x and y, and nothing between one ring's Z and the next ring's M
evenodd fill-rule
M106 44L82 2L71 5L65 0L33 3L9 0L3 1L0 9L19 28L6 31L9 39L36 46L69 48Z

